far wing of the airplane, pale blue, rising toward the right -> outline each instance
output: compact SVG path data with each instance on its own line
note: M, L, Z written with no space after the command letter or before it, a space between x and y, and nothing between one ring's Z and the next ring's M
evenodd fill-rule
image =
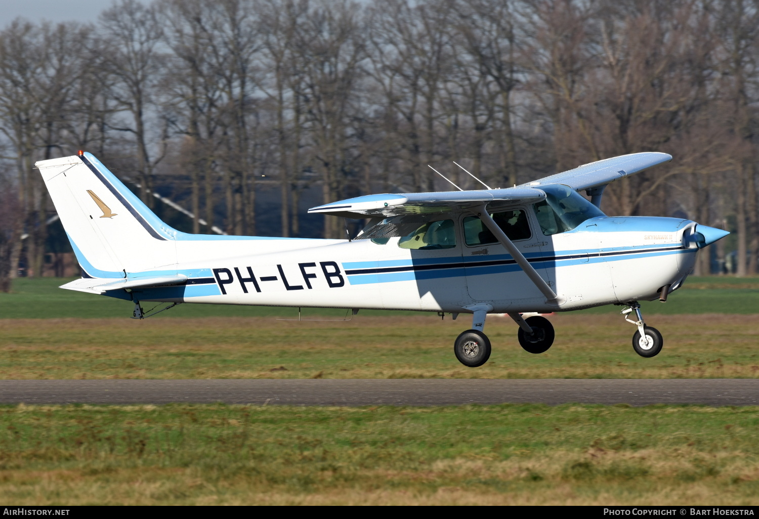
M521 184L519 187L564 184L565 186L572 187L575 191L589 190L593 187L604 186L620 178L625 178L633 173L638 173L638 171L643 171L651 166L669 162L670 160L672 160L672 156L669 153L631 153L630 155L621 155L611 159L591 162L590 164L583 164L569 171Z

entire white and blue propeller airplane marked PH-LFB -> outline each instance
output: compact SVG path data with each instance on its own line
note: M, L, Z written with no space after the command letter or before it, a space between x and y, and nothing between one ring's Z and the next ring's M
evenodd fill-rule
M729 233L606 216L599 206L610 182L671 159L634 153L508 189L375 194L309 209L370 219L352 241L185 234L90 153L36 166L82 268L61 288L134 301L137 319L146 301L471 313L454 351L475 367L490 357L488 313L508 313L521 347L539 354L554 332L537 313L605 304L625 306L636 353L659 353L662 336L638 300L666 300L697 251Z

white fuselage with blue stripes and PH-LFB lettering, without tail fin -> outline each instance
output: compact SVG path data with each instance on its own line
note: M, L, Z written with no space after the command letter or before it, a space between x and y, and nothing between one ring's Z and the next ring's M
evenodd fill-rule
M525 208L527 209L527 208ZM177 272L186 285L143 288L134 300L285 307L342 307L457 313L487 303L494 312L577 310L630 300L652 300L677 288L694 266L690 220L597 217L572 231L544 236L531 219L531 236L514 241L540 275L563 294L546 299L500 244L468 246L455 215L455 247L409 250L398 237L371 240L177 242ZM290 250L266 252L286 243ZM298 247L301 244L303 247ZM257 247L257 245L259 247ZM202 252L200 247L203 247ZM256 253L263 248L262 253ZM209 250L210 249L210 250ZM218 255L213 255L216 249ZM247 253L244 253L247 252ZM206 259L193 260L200 256ZM129 298L124 293L109 293Z

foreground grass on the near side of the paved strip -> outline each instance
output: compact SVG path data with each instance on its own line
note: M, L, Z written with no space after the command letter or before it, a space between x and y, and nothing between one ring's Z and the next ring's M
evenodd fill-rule
M14 505L757 505L757 461L757 407L0 407Z

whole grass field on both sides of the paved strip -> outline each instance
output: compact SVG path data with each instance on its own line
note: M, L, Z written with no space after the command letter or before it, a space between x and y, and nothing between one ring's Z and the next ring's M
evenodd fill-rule
M759 373L759 279L691 279L644 305L551 316L546 354L491 316L490 361L461 366L471 320L131 304L22 279L0 294L2 379L704 378ZM673 315L666 315L671 313ZM753 314L753 315L752 315ZM311 310L338 319L345 310ZM759 504L759 407L0 406L0 500L84 504Z

